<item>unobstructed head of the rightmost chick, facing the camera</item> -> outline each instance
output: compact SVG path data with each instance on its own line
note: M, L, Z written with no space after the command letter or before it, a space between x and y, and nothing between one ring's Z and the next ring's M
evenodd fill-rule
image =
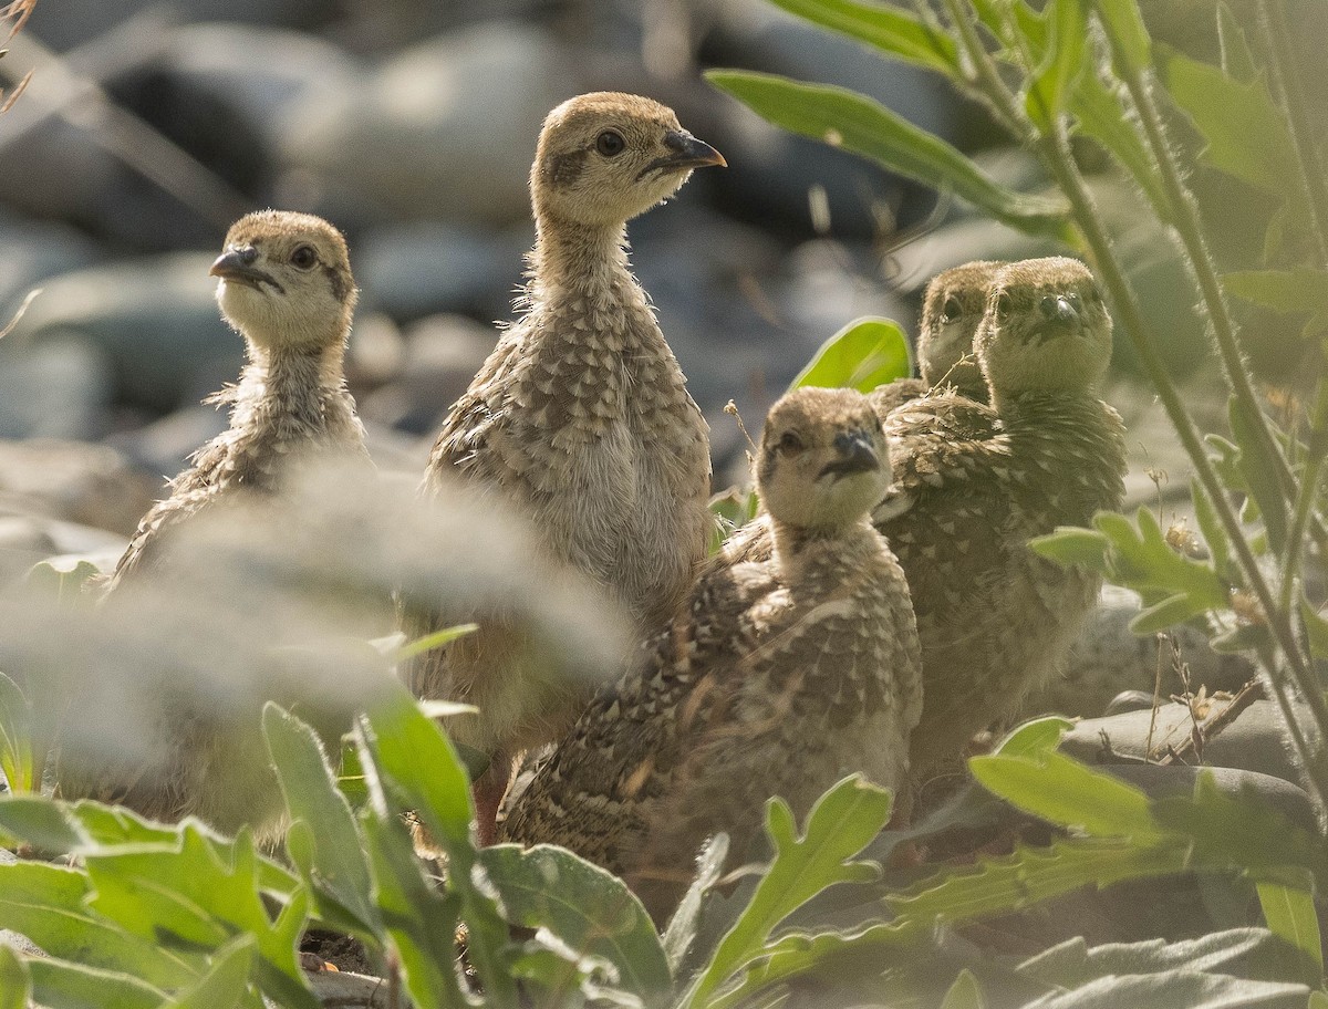
M1082 392L1112 360L1112 316L1077 259L1025 259L992 280L975 345L993 400Z

